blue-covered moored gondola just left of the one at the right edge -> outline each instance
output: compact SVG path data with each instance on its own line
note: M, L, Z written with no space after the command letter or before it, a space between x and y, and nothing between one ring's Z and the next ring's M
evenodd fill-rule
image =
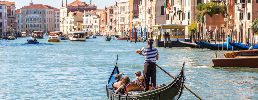
M205 42L205 41L200 41L201 44L203 44L204 46L206 47L209 47L209 48L212 48L212 49L215 49L215 50L222 50L222 44L212 44L212 43L208 43L208 42ZM228 46L227 46L228 45ZM220 46L220 48L219 48ZM232 50L232 46L230 44L227 44L227 43L224 43L223 44L223 50ZM234 50L237 50L236 47L233 47Z

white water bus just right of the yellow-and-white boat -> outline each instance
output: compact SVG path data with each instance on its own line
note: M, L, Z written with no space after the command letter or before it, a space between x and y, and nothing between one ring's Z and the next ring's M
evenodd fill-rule
M71 31L69 34L70 41L86 41L86 33L84 31Z

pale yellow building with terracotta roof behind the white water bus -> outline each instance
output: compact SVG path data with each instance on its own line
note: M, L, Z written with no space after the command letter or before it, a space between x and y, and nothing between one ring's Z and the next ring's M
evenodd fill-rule
M79 11L75 11L75 12L69 12L68 16L67 16L67 27L68 30L67 32L70 33L71 31L79 31L77 30L77 22L82 22L82 12Z

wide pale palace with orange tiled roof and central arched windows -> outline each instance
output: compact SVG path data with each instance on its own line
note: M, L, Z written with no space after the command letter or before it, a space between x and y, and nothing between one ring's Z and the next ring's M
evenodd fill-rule
M21 8L21 30L31 34L33 31L59 31L60 10L48 5L29 3Z

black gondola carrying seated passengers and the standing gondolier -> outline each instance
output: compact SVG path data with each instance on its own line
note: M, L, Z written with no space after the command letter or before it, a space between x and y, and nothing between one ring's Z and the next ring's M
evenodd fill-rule
M185 63L184 63L185 64ZM110 100L177 100L183 94L183 89L185 85L185 76L184 76L184 64L180 71L180 73L175 77L175 80L171 80L172 82L163 86L163 87L154 87L149 91L142 92L136 95L128 95L128 84L126 86L126 94L118 94L115 93L115 90L112 89L112 83L115 81L115 75L119 73L117 63L115 65L114 70L112 71L106 86L107 96ZM137 89L136 87L131 87L133 89ZM136 90L137 91L137 90Z

